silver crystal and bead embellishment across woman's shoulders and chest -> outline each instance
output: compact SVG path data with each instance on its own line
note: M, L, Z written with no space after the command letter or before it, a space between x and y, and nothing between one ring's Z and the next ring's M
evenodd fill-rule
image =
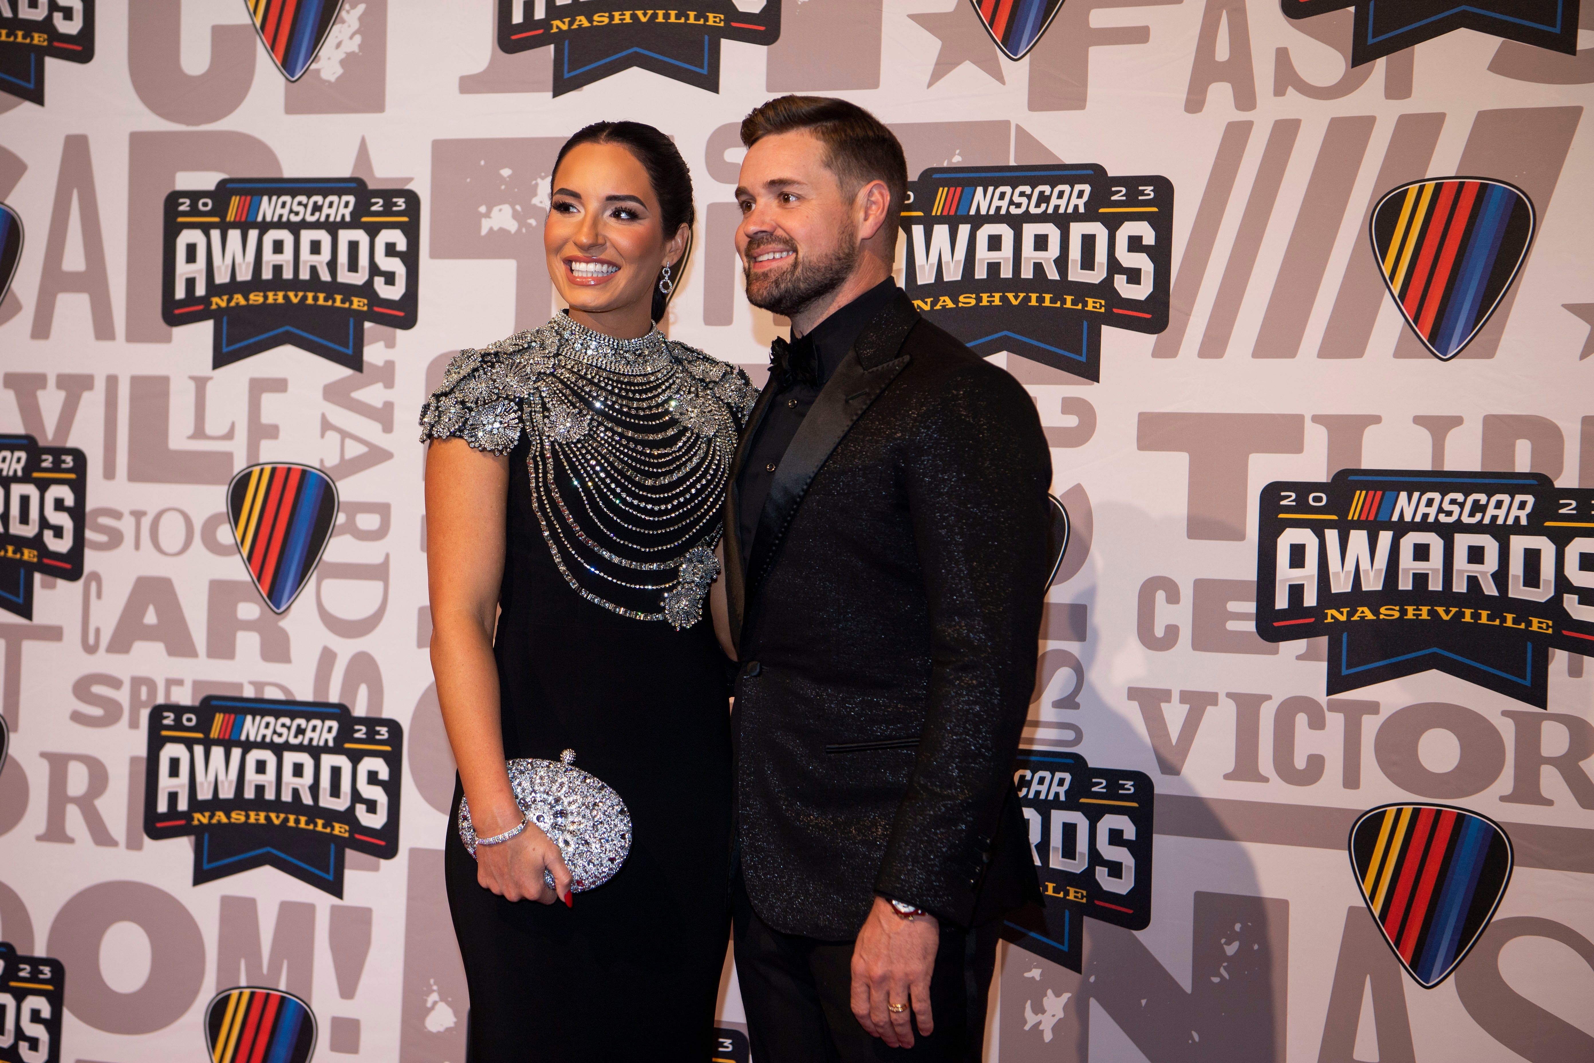
M421 410L421 441L462 438L526 469L542 537L582 598L636 620L697 623L736 440L759 390L654 330L614 339L564 314L461 351Z

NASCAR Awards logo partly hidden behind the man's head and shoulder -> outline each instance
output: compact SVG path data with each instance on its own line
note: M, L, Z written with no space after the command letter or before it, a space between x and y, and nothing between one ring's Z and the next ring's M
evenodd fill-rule
M1101 379L1101 327L1168 327L1173 185L1100 166L931 167L902 210L905 288L982 355Z

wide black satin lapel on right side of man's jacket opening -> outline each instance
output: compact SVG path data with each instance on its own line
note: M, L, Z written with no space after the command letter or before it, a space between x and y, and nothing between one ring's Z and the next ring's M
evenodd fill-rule
M767 571L815 473L829 461L858 418L907 367L909 355L902 352L902 341L917 324L918 312L912 300L897 292L859 333L851 352L815 398L770 484L770 497L759 515L749 572L743 574L744 582L749 575L757 579Z

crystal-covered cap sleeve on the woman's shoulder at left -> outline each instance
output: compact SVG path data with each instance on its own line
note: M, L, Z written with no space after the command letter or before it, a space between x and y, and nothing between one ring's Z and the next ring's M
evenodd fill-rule
M520 400L532 378L552 368L542 328L462 349L421 406L421 441L462 438L478 451L508 454L520 441Z

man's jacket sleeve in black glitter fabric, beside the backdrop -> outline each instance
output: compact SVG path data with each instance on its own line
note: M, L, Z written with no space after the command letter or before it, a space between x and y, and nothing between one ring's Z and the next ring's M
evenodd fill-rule
M944 389L907 469L928 706L875 891L968 926L1035 687L1050 451L1030 395L996 367Z

